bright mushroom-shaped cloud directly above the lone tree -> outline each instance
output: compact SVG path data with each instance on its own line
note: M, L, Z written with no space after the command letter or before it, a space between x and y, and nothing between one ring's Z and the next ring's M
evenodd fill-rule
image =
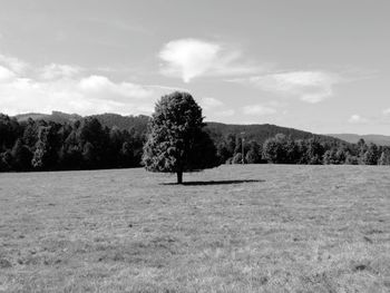
M185 82L199 76L231 76L259 72L260 68L244 64L238 50L216 42L179 39L166 43L158 57L164 61L160 72L181 77Z

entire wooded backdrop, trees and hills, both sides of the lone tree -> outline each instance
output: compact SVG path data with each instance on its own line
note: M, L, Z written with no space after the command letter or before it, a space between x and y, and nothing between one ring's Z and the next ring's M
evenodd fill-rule
M147 121L113 114L0 115L0 170L139 167ZM363 139L350 144L274 125L208 123L206 131L221 164L390 165L390 147Z

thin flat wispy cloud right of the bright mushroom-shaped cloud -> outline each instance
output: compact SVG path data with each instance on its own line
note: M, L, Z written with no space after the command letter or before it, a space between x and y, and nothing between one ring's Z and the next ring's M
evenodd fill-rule
M262 90L281 96L298 97L303 101L315 104L333 95L333 86L340 82L340 77L326 71L289 71L255 76L248 79L231 81L248 82Z

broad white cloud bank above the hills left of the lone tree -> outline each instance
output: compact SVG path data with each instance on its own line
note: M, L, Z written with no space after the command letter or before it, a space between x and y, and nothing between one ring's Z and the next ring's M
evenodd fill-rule
M0 66L0 109L9 115L52 110L81 115L108 111L150 114L155 100L172 91L82 74L85 71L78 67L68 65L48 65L19 74L11 69L10 64Z

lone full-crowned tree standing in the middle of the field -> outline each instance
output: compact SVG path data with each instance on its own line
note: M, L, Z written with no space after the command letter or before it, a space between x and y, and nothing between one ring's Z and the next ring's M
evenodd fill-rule
M175 91L156 104L148 125L143 164L147 170L176 173L218 166L216 148L203 130L202 108L187 92Z

